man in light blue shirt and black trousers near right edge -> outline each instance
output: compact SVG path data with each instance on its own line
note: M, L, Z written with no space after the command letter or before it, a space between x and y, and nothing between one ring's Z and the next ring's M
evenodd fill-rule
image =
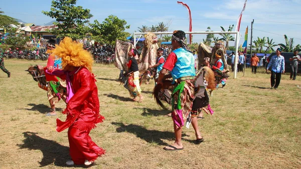
M281 73L284 73L284 57L281 56L281 49L276 50L276 55L271 57L265 71L267 72L269 67L271 68L271 87L270 89L277 89L281 79Z

